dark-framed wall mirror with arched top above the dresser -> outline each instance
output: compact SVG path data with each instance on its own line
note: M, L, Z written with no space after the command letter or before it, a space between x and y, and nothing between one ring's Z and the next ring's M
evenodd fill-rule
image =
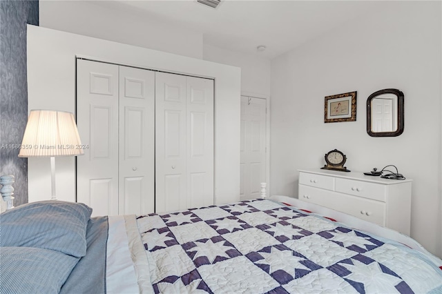
M368 97L367 133L372 137L396 137L403 133L403 92L384 89Z

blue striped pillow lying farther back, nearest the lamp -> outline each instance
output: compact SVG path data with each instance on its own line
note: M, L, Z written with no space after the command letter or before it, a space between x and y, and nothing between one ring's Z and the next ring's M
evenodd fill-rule
M91 213L85 204L54 200L17 206L0 215L0 246L44 248L82 257Z

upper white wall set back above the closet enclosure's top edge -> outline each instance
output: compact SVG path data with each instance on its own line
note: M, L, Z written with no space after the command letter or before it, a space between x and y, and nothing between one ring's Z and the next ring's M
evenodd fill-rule
M202 58L201 32L177 28L153 16L142 17L119 6L112 1L40 0L39 26Z

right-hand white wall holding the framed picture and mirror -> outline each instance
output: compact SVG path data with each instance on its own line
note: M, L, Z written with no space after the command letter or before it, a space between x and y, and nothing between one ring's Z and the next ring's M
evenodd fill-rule
M392 1L271 63L271 193L298 194L298 168L320 168L334 148L347 168L388 164L412 184L412 237L441 250L441 2ZM405 131L369 137L367 97L405 94ZM324 123L324 97L358 91L354 122Z

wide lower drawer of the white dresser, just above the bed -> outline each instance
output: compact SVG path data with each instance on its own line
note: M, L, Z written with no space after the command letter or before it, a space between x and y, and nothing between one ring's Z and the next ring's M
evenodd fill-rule
M344 195L310 186L299 185L299 199L353 215L368 222L385 226L383 202ZM327 216L327 215L325 215Z

